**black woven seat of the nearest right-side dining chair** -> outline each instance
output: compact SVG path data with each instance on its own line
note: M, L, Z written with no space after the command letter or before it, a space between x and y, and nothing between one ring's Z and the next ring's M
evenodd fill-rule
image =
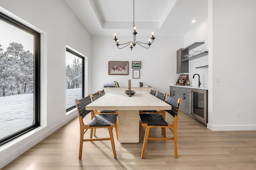
M142 114L140 119L142 123L147 123L149 126L168 126L168 123L159 114Z

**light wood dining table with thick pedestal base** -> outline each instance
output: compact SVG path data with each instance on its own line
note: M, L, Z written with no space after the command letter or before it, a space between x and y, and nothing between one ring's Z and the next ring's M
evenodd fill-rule
M125 91L112 91L86 106L86 110L118 110L118 141L139 143L139 110L170 110L172 106L146 91L128 97Z

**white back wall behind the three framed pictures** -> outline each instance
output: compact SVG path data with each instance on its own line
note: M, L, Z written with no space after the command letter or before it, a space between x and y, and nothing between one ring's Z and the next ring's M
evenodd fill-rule
M138 33L140 30L138 30ZM92 38L92 91L103 87L103 83L113 83L115 80L121 87L128 87L131 79L132 87L139 87L139 82L151 85L154 90L170 93L170 84L175 84L176 50L183 46L183 37L160 37L149 49L136 45L131 51L129 47L118 49L113 37ZM132 41L133 37L118 37L119 43ZM147 42L148 37L138 36L137 41ZM108 75L108 61L128 61L129 75ZM140 78L132 78L132 61L141 61Z

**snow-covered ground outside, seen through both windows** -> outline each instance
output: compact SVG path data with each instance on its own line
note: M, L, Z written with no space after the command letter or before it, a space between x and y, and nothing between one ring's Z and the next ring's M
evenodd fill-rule
M75 105L82 96L82 88L66 89L66 107ZM33 94L0 97L0 139L33 123Z

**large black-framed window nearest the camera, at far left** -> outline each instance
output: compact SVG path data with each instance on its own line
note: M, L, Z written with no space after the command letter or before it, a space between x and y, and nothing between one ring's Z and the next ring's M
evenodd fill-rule
M40 125L40 33L0 13L0 145Z

